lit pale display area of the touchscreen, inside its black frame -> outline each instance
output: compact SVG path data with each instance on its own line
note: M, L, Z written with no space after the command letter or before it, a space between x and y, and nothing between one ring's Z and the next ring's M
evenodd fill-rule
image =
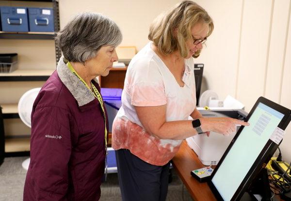
M225 201L235 194L284 115L259 103L241 134L220 164L212 183Z

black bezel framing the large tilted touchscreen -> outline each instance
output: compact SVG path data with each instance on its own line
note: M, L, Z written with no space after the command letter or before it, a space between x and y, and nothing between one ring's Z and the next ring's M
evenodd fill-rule
M250 119L250 117L254 113L255 109L258 107L259 103L262 103L262 104L264 104L264 105L266 105L266 106L268 106L270 108L273 108L276 111L284 114L284 117L282 118L282 120L280 121L280 123L278 124L277 127L281 128L282 130L285 130L287 125L290 123L290 120L291 120L291 110L288 109L288 108L285 108L283 106L280 106L280 105L276 104L275 102L270 101L270 100L268 100L268 99L266 99L264 97L259 97L259 99L255 103L254 107L251 109L250 113L247 115L245 121L248 122L248 120ZM220 193L218 192L218 190L216 189L216 187L212 183L212 178L214 177L215 173L219 169L220 165L223 163L224 159L226 158L226 155L228 154L228 152L232 148L232 146L235 143L236 139L241 134L243 127L244 126L241 126L241 128L238 130L238 132L235 135L235 137L232 139L232 141L228 145L228 147L226 149L226 152L221 157L221 159L218 162L216 168L214 169L213 173L211 174L210 181L208 182L208 185L210 186L210 189L213 192L214 196L217 198L217 200L222 200L223 201L223 198L221 197ZM246 176L242 180L241 185L238 187L238 189L236 190L235 194L231 198L231 201L236 201L236 200L238 200L238 199L240 199L242 197L243 193L248 189L248 187L250 186L251 182L256 177L256 175L259 173L259 171L262 168L264 168L266 166L266 162L268 162L271 159L272 155L275 153L275 151L276 151L278 146L279 145L276 144L275 142L273 142L271 139L269 139L267 141L266 145L264 146L264 148L260 152L259 156L257 157L255 162L253 163L252 167L250 168L250 170L248 171L248 173L246 174Z

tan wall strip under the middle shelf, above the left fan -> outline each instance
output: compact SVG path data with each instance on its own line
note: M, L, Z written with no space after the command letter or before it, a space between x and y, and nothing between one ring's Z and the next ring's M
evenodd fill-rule
M33 88L42 87L44 83L44 81L0 82L0 104L18 103L23 93Z

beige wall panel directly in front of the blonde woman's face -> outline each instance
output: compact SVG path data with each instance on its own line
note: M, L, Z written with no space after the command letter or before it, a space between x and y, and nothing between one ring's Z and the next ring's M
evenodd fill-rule
M242 0L198 0L214 22L214 31L206 42L201 55L195 59L204 63L204 77L208 89L220 99L235 96L239 56Z

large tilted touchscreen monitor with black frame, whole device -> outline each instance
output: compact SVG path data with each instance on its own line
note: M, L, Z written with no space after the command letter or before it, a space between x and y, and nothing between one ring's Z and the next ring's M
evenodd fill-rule
M209 186L218 200L237 201L265 167L290 123L291 110L259 97L213 171Z

